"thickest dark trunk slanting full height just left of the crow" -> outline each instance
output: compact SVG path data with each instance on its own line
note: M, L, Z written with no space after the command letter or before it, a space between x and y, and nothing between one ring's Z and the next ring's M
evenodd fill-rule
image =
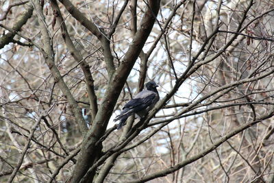
M79 159L75 166L72 182L79 182L91 167L96 156L101 151L101 145L95 147L95 144L101 136L103 136L105 129L108 125L108 121L112 115L115 103L123 89L127 76L129 75L134 63L136 62L142 47L151 32L151 29L155 23L155 17L158 14L160 8L160 1L149 1L149 8L147 8L145 15L140 23L140 28L134 36L132 44L129 46L125 57L121 62L119 68L111 78L108 89L105 93L105 97L102 100L101 106L98 110L94 124L92 124L86 138L84 139L83 146L80 152ZM87 180L92 180L92 171L86 176Z

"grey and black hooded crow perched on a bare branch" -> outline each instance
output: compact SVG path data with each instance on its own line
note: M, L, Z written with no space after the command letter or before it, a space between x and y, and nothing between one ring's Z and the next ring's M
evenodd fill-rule
M159 93L157 90L158 84L153 81L145 84L145 89L138 93L133 99L128 101L121 114L115 117L114 121L120 121L117 130L121 129L125 125L127 118L133 114L137 114L137 117L142 119L145 115L155 106L159 101Z

